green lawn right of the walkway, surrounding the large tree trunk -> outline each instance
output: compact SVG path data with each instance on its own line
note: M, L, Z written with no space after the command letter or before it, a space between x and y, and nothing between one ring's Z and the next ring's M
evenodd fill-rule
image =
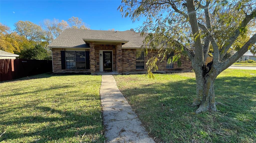
M215 81L219 112L196 115L194 73L114 76L158 142L256 142L256 70L227 69Z

